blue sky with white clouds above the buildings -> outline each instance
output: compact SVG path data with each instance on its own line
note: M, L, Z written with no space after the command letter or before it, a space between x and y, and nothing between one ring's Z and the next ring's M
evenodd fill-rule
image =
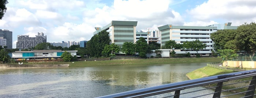
M256 21L256 0L8 0L0 29L18 35L47 35L47 42L89 41L94 27L112 20L138 21L136 30L166 24L207 26Z

